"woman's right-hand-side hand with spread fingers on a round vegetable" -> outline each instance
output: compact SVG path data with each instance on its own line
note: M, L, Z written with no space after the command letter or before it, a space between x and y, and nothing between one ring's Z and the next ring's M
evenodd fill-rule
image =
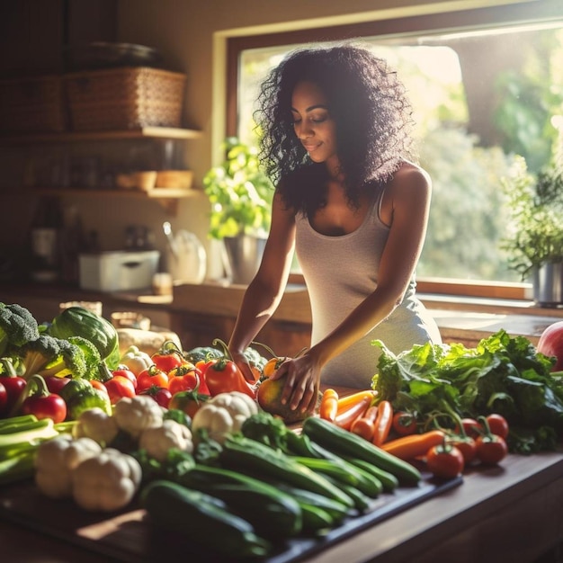
M317 406L320 383L320 365L311 353L298 358L288 358L281 363L271 379L286 378L281 403L289 405L291 410L302 413L313 412Z

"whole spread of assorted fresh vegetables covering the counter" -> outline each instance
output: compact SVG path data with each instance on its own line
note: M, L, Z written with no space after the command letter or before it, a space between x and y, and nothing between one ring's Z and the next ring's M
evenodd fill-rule
M373 389L326 389L297 433L269 380L285 358L264 344L270 360L246 350L247 381L219 340L118 357L110 323L67 310L38 325L0 303L0 483L33 478L87 511L144 507L207 558L271 556L417 487L424 469L457 478L509 448L553 449L563 431L555 359L504 331L397 356L376 341Z

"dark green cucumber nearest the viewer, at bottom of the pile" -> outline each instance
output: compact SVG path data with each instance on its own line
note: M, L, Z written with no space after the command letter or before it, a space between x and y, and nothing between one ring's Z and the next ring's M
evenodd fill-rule
M156 526L178 532L206 550L246 558L264 557L273 549L251 523L229 512L219 498L201 491L157 479L143 489L140 500Z

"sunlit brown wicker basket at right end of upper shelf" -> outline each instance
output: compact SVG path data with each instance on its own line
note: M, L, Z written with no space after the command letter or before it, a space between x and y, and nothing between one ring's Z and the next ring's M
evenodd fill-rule
M180 127L186 76L121 67L64 77L73 130Z

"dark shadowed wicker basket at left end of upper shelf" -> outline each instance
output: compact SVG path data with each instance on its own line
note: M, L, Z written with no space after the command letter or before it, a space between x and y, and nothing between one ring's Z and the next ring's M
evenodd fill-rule
M10 133L60 132L66 129L60 76L0 80L0 130Z

